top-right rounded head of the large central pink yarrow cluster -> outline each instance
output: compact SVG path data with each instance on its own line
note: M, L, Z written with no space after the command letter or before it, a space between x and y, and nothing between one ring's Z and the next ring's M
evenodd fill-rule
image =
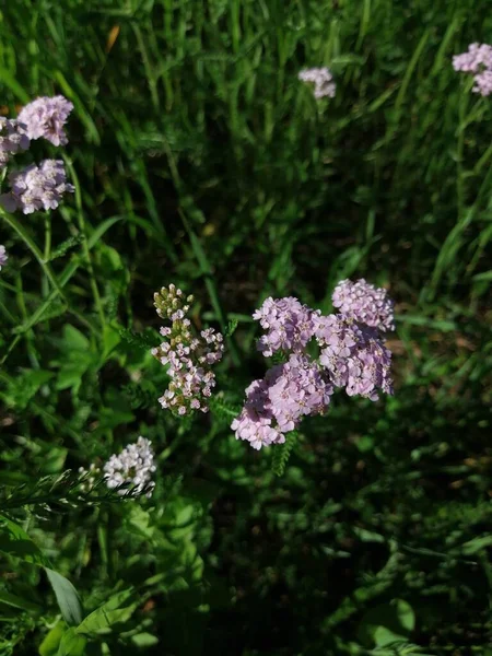
M394 302L383 288L375 288L363 278L356 282L342 280L331 296L340 313L360 324L383 332L395 330Z

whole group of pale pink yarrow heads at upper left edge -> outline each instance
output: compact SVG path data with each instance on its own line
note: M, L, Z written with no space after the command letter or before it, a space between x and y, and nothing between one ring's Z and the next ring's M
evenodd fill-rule
M65 124L73 109L63 96L40 97L28 103L16 119L0 118L0 169L12 155L28 150L34 139L46 139L54 145L66 145ZM10 191L0 196L0 204L8 212L21 210L30 214L38 210L56 209L63 195L73 192L67 183L61 160L43 160L8 176Z

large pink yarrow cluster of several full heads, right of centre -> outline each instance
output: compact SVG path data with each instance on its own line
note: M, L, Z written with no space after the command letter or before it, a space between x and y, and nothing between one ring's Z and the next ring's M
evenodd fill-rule
M336 388L373 401L379 390L393 394L391 353L382 332L394 329L386 291L344 280L332 300L342 312L324 316L294 297L267 298L255 312L266 331L258 349L267 356L282 354L285 362L246 389L231 426L237 440L256 449L284 443L304 417L328 410Z

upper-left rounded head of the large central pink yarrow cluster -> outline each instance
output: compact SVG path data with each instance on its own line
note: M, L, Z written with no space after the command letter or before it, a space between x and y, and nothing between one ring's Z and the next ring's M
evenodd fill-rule
M258 342L258 350L267 358L277 351L301 352L313 337L315 311L297 298L267 298L253 318L267 331Z

